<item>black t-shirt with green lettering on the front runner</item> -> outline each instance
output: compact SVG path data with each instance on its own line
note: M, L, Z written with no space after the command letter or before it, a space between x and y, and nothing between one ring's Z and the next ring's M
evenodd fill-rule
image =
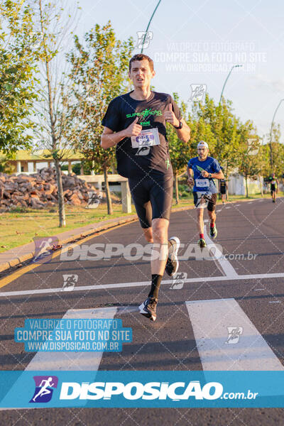
M102 126L115 132L121 131L138 116L138 124L142 129L157 128L160 139L160 145L144 148L132 148L131 138L124 138L117 143L116 160L119 175L126 178L141 178L146 173L173 175L164 118L165 109L168 109L169 104L173 105L175 116L180 120L180 109L170 94L151 92L148 99L137 101L126 93L110 102L102 119Z

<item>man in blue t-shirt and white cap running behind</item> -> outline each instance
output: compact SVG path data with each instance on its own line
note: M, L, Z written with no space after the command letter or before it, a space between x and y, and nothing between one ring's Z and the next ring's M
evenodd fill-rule
M188 185L193 187L193 200L197 208L197 228L200 233L198 244L200 247L206 247L204 240L204 222L203 210L207 207L210 219L210 236L217 237L217 227L215 224L216 214L215 206L217 202L217 188L215 179L224 179L221 167L215 158L209 157L209 148L207 142L200 141L197 145L198 157L191 158L187 163Z

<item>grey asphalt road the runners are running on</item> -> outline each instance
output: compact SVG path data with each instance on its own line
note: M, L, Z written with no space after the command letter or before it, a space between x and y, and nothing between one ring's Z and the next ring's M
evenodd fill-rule
M217 337L210 333L217 328L218 320L214 310L206 310L206 307L202 315L197 312L195 317L185 303L206 300L214 301L214 306L214 303L228 299L236 301L238 318L256 328L267 346L265 350L270 354L267 358L249 341L251 364L247 369L273 369L266 364L270 362L270 356L276 365L279 363L284 368L283 207L284 198L279 198L276 204L271 200L254 200L218 206L218 236L214 243L226 255L222 260L200 257L202 253L196 244L195 210L173 213L169 234L178 236L184 244L180 249L179 270L183 273L183 282L177 283L168 275L164 276L156 322L150 322L138 313L138 305L148 294L150 278L149 262L142 257L149 254L138 222L80 242L75 251L68 253L70 258L67 258L66 251L23 273L0 289L0 368L24 370L33 362L35 353L26 353L23 344L13 339L15 327L23 327L26 318L62 318L68 310L114 307L115 317L123 320L124 327L132 328L133 342L124 344L121 353L104 353L99 362L100 370L148 370L151 378L151 371L155 370L205 370L207 365L216 370L246 369L238 358L228 364L228 359L222 357L222 350L216 352L209 348L211 355L202 354L202 345L197 342L196 324L203 324L202 331L207 340L213 342ZM206 225L208 228L209 224ZM119 244L127 249L124 249L124 254L114 253L111 256L110 246L106 249L106 244L118 244L113 251L121 249ZM132 249L130 244L133 244ZM138 246L138 251L134 246ZM101 251L96 255L94 249L98 247ZM98 257L98 253L97 259L87 258ZM63 275L77 275L72 291L60 290L64 283ZM129 283L136 284L129 286ZM117 284L120 285L114 286ZM82 286L87 288L80 290ZM226 320L223 320L229 327L236 325L234 320L231 324L236 312L231 313L230 301L226 303L224 312L227 312L227 317L225 315ZM208 327L210 322L212 329ZM224 334L222 342L227 338L228 334ZM243 342L246 342L245 336ZM160 426L161 423L166 426L284 425L284 412L280 408L46 408L0 411L1 425Z

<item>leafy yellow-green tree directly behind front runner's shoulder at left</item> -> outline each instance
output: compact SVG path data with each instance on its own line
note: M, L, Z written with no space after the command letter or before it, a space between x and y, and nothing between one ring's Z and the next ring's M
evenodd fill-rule
M102 118L111 99L129 86L128 68L133 40L116 38L110 21L85 33L84 42L75 36L68 55L72 65L72 96L68 97L69 141L104 173L108 214L112 214L108 170L114 164L115 148L101 147Z

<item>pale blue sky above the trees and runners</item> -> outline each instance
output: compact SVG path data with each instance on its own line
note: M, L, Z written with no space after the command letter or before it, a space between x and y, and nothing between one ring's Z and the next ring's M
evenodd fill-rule
M76 33L111 21L116 37L138 40L146 31L158 0L79 0L82 8ZM144 53L154 61L157 92L173 94L189 106L191 84L205 84L219 102L233 102L242 121L252 120L258 135L270 131L273 113L284 98L283 0L161 0L148 31ZM139 53L136 48L134 53ZM204 87L204 86L202 86ZM275 122L282 127L284 102ZM281 136L284 141L284 135Z

